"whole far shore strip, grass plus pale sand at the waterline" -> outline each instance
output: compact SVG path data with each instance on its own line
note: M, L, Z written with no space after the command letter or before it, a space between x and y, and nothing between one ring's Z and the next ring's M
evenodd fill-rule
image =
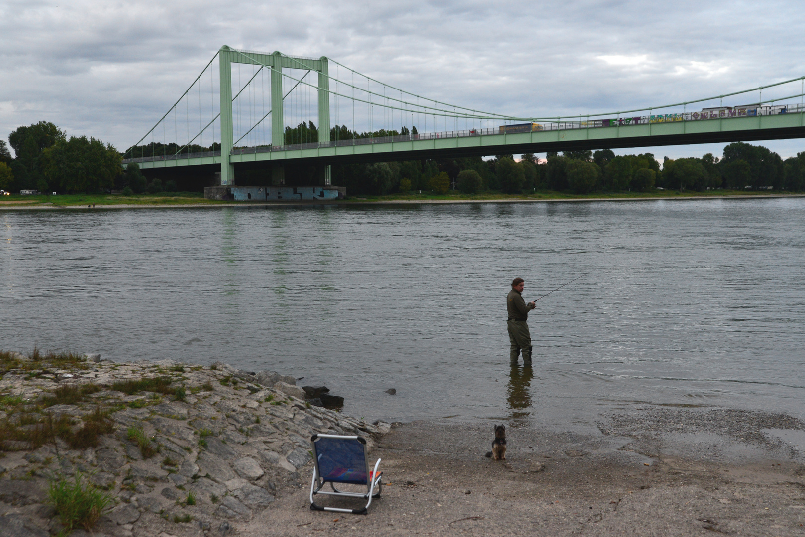
M204 200L200 196L137 196L130 203L121 203L127 200L124 196L109 195L68 195L56 196L56 202L51 196L35 196L35 199L26 199L29 196L14 196L16 199L0 200L0 210L31 210L31 209L200 209L217 207L287 207L299 205L402 205L402 204L485 204L485 203L545 203L545 202L588 202L588 201L655 201L655 200L713 200L713 199L762 199L762 198L796 198L805 197L805 194L765 194L765 193L704 193L691 194L678 193L634 193L606 196L591 195L564 195L558 192L539 193L534 196L404 196L401 194L390 196L349 197L345 200L327 201L215 201ZM20 199L20 198L23 199ZM89 205L92 205L90 207Z

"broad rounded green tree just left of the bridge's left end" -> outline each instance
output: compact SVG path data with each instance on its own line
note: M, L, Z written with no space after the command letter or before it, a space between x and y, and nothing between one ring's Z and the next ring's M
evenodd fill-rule
M95 192L114 186L122 157L111 144L86 136L59 140L42 151L45 179L66 191Z

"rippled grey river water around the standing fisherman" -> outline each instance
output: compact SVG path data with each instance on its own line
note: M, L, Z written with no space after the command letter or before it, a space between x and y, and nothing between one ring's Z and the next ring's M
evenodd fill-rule
M222 360L367 419L805 417L805 199L4 211L0 348ZM526 279L531 368L510 367ZM395 395L386 394L389 388Z

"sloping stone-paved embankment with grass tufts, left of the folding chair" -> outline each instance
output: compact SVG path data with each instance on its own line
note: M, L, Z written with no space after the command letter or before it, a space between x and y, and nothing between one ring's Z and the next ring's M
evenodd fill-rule
M237 533L308 485L312 434L359 434L371 449L391 429L318 406L324 386L221 362L0 352L0 374L3 537L89 535L64 534L48 501L76 478L113 500L92 535Z

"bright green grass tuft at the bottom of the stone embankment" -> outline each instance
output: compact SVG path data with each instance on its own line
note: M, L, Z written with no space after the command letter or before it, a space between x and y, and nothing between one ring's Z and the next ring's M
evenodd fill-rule
M91 531L101 514L114 505L114 499L87 481L81 472L76 472L72 481L65 477L51 481L47 496L64 526L64 535L75 527Z

